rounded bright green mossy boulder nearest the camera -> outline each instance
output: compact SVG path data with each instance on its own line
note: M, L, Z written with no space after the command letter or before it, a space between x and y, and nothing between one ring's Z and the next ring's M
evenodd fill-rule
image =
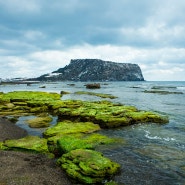
M119 164L104 157L102 153L87 149L72 150L59 158L57 164L71 178L85 184L101 183L120 169Z

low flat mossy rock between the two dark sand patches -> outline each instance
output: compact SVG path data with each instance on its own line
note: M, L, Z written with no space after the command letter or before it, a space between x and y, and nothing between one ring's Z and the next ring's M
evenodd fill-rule
M49 153L47 140L38 136L27 136L17 140L6 140L3 145L7 147L8 150Z

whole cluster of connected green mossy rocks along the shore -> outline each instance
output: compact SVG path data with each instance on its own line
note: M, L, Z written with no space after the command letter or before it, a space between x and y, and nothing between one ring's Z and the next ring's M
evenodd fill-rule
M96 147L120 142L96 133L137 123L167 123L154 112L108 101L61 100L57 93L15 91L0 93L0 115L20 117L48 113L58 123L46 129L43 137L26 136L0 142L0 150L30 151L57 158L67 175L84 184L96 184L111 178L120 165L96 151ZM40 123L39 123L40 124Z

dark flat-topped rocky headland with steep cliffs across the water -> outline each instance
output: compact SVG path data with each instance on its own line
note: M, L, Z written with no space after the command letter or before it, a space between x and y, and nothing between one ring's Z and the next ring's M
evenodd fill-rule
M64 68L42 75L37 80L143 81L144 78L137 64L98 59L75 59Z

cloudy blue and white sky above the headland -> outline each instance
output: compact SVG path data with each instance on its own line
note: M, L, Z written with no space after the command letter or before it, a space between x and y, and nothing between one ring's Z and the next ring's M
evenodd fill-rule
M138 64L147 81L185 81L185 1L0 0L0 78L85 58Z

